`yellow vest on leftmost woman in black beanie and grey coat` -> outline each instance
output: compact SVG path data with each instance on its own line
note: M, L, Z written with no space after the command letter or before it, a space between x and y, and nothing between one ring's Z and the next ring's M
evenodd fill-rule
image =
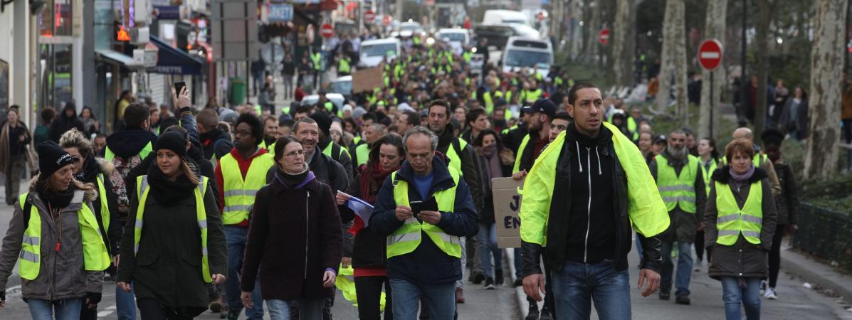
M21 210L26 209L28 194L27 192L18 197ZM95 213L86 203L82 205L83 207L77 210L77 219L83 243L83 268L86 271L104 271L112 260L109 257L107 245L104 244L104 237L101 235ZM26 223L18 256L18 275L26 280L35 280L41 270L42 216L38 214L36 206L32 206L29 214L30 218ZM53 247L51 246L49 250L53 250Z

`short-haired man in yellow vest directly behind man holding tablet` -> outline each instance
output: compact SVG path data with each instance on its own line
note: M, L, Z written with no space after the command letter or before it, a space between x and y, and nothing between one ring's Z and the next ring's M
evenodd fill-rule
M480 212L483 208L481 195L483 194L480 188L480 169L479 161L477 160L476 151L473 146L469 145L468 141L459 139L454 134L454 129L450 124L450 103L446 100L433 100L429 104L429 129L438 135L438 146L435 150L445 155L449 160L449 166L463 175L470 189L470 195L474 200L476 212ZM480 256L479 246L476 245L476 237L469 238L469 243L475 250L475 257ZM473 278L473 283L479 284L485 281L485 272L482 271L482 262L480 259L474 259L473 271L470 272L470 277ZM462 265L466 265L466 255L462 255ZM464 301L463 288L464 283L458 283L459 302Z

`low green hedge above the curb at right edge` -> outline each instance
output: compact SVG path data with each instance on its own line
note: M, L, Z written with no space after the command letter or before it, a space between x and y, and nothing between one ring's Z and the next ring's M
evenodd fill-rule
M794 248L852 272L852 214L800 203L797 223Z

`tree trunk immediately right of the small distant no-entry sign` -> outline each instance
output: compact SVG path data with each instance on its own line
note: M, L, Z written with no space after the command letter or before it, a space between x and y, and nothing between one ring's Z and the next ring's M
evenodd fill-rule
M613 73L615 84L620 87L634 83L632 68L633 53L636 44L636 24L633 17L633 0L617 0L615 8L615 23L613 24Z

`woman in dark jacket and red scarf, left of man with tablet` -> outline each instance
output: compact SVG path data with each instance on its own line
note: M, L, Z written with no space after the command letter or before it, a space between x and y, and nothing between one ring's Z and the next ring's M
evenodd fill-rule
M346 193L338 192L337 208L340 210L343 223L355 219L355 213L346 205L350 197L360 197L366 203L376 204L379 188L391 173L400 169L400 164L406 159L406 151L402 146L402 137L397 134L386 134L373 144L370 160L360 166L359 173L349 182ZM369 220L354 224L349 229L355 234L352 248L352 267L354 268L355 294L358 299L358 317L360 319L381 319L381 296L384 288L384 318L393 319L393 291L388 278L388 253L385 237L379 235L369 226ZM365 225L366 224L366 225ZM345 257L344 253L344 257ZM346 264L344 258L344 266Z

